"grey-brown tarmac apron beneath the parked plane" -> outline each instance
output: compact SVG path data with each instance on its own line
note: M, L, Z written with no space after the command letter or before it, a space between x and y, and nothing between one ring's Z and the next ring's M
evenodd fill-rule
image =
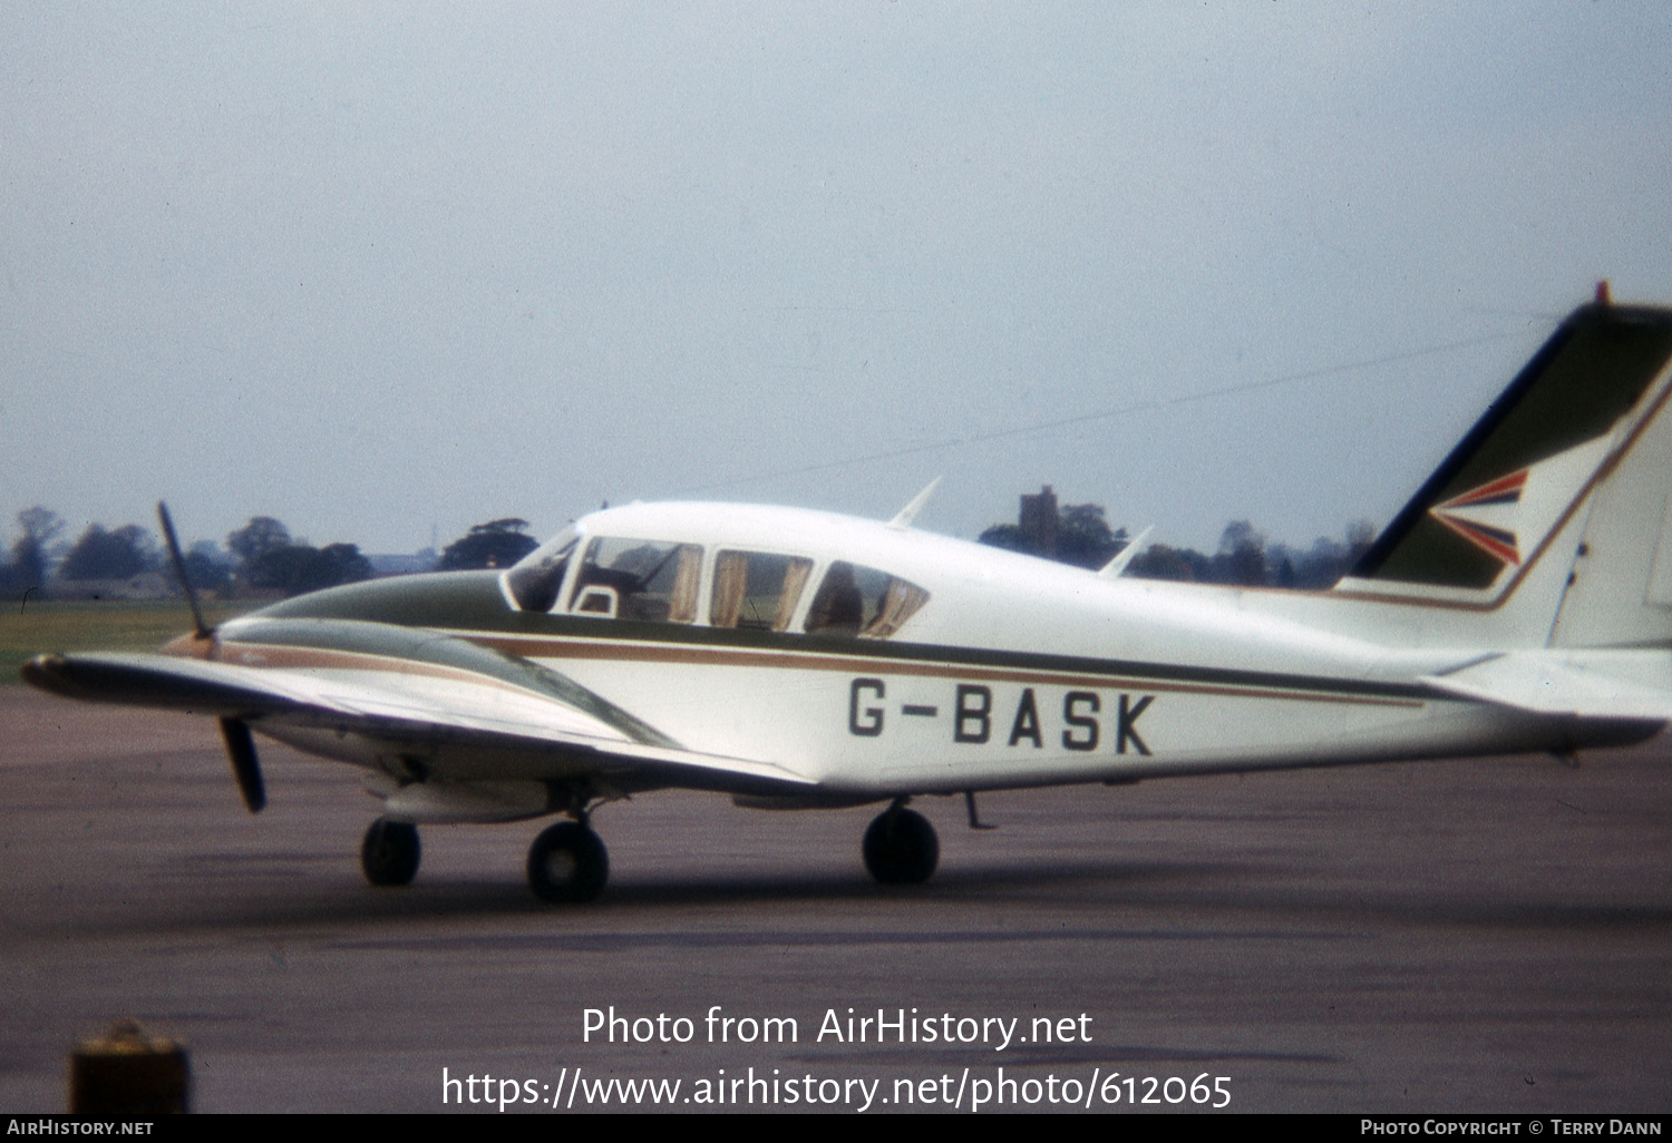
M594 817L604 897L550 907L543 822L426 829L373 889L348 767L257 739L251 817L211 720L0 687L0 1111L62 1111L69 1048L122 1016L189 1044L199 1111L580 1111L610 1080L679 1110L1672 1106L1665 740L993 794L988 832L923 799L941 867L910 889L863 871L874 809L654 794ZM587 1038L612 1006L649 1043Z

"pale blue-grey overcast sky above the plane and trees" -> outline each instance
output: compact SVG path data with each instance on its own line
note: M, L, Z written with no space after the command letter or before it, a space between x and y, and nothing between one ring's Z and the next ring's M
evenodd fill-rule
M7 3L0 261L5 523L1302 545L1672 302L1672 7Z

